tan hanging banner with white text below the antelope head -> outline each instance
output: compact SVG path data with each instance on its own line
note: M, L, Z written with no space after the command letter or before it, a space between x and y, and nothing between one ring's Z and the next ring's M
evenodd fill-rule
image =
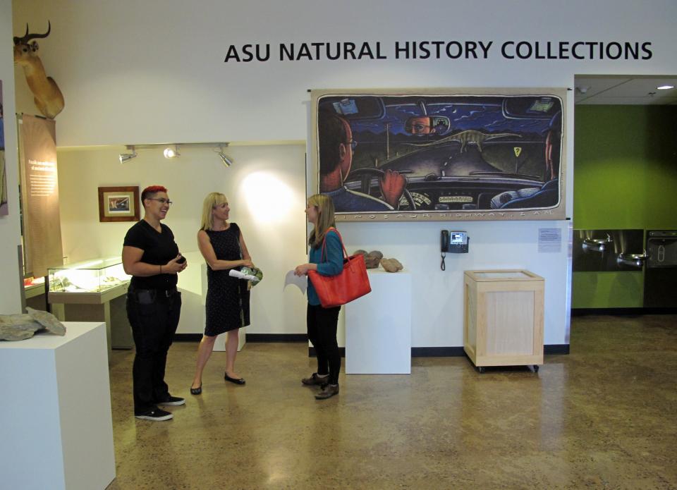
M46 276L47 267L63 264L54 121L20 116L19 154L25 271Z

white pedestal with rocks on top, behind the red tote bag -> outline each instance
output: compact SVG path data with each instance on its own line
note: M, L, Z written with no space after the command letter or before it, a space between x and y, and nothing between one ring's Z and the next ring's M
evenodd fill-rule
M410 374L411 274L367 272L372 292L345 306L346 374Z

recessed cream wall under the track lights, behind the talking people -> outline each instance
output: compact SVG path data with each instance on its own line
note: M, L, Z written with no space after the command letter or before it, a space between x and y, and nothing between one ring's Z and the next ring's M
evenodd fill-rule
M133 223L99 223L97 188L160 184L174 202L164 221L189 260L179 276L184 307L179 333L202 332L197 230L202 200L223 192L264 281L252 291L250 333L305 332L305 297L298 288L283 290L284 274L306 262L305 168L303 145L229 147L235 164L224 167L210 147L182 147L181 157L165 159L162 149L140 149L126 164L121 148L60 150L59 194L63 255L69 262L119 256ZM303 319L300 321L299 319Z

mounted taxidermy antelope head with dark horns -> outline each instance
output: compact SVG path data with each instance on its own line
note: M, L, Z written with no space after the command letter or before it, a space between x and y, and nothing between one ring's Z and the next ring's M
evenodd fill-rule
M44 66L37 55L37 42L31 39L42 39L49 36L51 23L48 21L47 32L29 34L28 24L23 37L14 37L14 63L23 67L30 91L35 96L35 105L42 114L54 119L63 109L63 94L56 82L44 73Z

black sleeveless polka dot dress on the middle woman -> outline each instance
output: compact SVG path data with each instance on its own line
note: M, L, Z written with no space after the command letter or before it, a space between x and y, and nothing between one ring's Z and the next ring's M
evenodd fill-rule
M206 230L219 260L240 260L240 228L231 223L226 230ZM239 269L239 267L237 268ZM207 267L207 322L205 335L216 336L248 326L249 291L247 281L228 276L227 270L212 271Z

